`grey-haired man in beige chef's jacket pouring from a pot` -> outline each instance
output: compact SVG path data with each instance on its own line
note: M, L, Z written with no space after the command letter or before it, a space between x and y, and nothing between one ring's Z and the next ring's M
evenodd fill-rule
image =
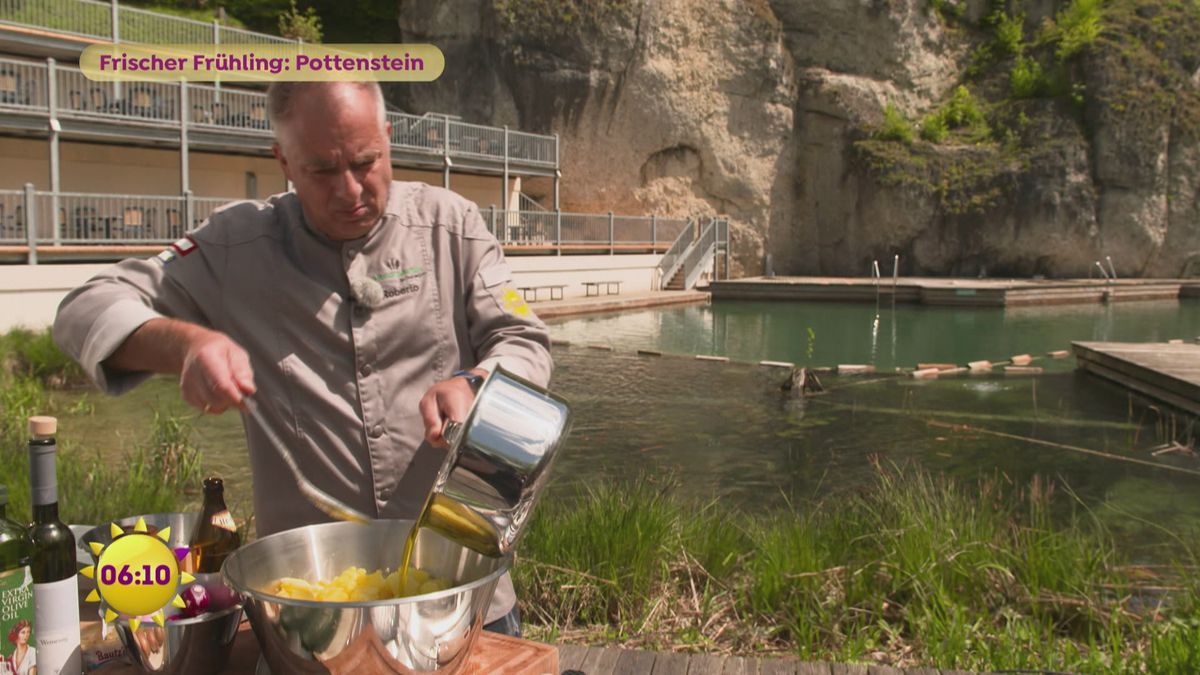
M443 424L474 396L458 371L503 364L545 386L545 325L474 204L391 180L378 84L276 83L268 108L294 192L226 207L157 257L91 279L64 299L55 340L109 393L170 372L208 413L253 395L318 488L415 518ZM328 520L258 422L242 422L259 536ZM505 577L492 628L520 629L514 603Z

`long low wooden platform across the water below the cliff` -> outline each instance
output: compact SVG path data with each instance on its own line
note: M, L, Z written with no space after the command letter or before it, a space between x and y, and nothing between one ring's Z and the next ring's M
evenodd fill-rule
M1181 293L1188 287L1188 293ZM1193 292L1192 288L1195 288ZM919 303L925 305L1010 307L1020 305L1094 304L1128 300L1174 300L1200 297L1200 283L1177 279L890 279L845 276L757 276L714 281L714 300L835 300ZM1194 293L1194 294L1193 294ZM1192 295L1189 295L1192 294Z

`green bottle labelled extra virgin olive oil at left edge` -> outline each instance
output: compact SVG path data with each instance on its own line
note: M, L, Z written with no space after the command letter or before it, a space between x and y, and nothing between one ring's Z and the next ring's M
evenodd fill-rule
M8 519L8 486L0 485L0 635L13 635L12 650L4 645L0 657L24 669L34 664L34 578L29 568L32 546L25 527ZM6 673L0 667L0 673Z

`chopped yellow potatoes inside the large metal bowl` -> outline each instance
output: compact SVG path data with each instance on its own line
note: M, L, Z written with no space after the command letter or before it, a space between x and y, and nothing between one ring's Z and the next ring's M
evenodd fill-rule
M284 577L272 585L272 595L300 601L365 602L433 593L451 586L449 579L437 579L424 569L409 568L404 589L401 589L400 571L384 577L378 569L367 574L361 567L348 567L329 581L312 583Z

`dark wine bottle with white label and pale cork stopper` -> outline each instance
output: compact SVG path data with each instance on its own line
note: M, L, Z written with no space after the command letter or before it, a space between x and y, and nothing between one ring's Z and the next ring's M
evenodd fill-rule
M53 417L29 418L29 479L32 486L34 638L38 675L78 675L79 581L76 577L74 534L59 520L59 490L54 460L58 447Z

